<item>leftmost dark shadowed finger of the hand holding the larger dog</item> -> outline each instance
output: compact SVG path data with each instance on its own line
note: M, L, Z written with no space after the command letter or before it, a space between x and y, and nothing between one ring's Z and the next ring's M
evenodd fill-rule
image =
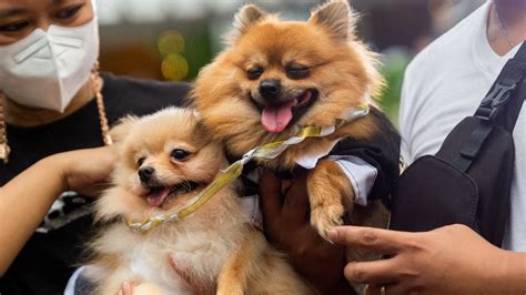
M281 182L270 171L263 172L260 177L260 203L264 220L275 220L281 214Z

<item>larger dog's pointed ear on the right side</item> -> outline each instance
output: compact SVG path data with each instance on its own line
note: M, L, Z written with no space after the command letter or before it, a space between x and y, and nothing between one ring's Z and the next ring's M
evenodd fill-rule
M337 40L347 41L354 38L356 18L347 0L330 0L312 11L308 22L326 28Z

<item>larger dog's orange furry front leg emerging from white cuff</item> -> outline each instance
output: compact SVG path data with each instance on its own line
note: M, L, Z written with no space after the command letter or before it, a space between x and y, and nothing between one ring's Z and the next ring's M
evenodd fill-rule
M307 175L308 200L311 202L311 224L327 240L327 232L343 224L345 211L352 211L354 191L340 165L331 160L322 160ZM347 208L344 207L347 204Z

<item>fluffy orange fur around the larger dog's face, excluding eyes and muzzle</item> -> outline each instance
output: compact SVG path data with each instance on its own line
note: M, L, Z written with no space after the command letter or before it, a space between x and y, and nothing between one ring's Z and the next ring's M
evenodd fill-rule
M266 14L262 18L252 26L244 24L244 33L232 42L232 47L202 69L192 91L204 124L213 130L219 139L224 140L234 154L243 154L266 142L287 139L300 125L332 125L345 110L362 103L365 92L376 94L383 85L383 80L375 70L374 54L357 40L334 40L327 33L326 26L317 24L316 13L306 23L281 22ZM310 67L310 78L286 79L283 67L290 61ZM259 80L246 78L247 68L254 63L266 67L260 80L281 79L283 87L291 91L306 88L321 91L315 108L312 108L296 126L279 134L269 133L262 128L261 114L247 99L247 93L257 88L259 83ZM368 130L373 132L374 126ZM370 134L347 135L361 139ZM303 154L311 149L317 149L317 143L323 141L310 140L289 149L276 162L295 157L289 154ZM285 162L289 166L293 161Z

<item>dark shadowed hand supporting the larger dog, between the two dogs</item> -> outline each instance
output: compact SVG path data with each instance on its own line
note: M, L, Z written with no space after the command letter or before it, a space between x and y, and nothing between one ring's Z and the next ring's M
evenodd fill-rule
M308 221L306 173L281 196L282 183L271 172L260 179L260 200L266 238L287 253L296 271L323 294L348 294L343 277L345 247L323 240Z

